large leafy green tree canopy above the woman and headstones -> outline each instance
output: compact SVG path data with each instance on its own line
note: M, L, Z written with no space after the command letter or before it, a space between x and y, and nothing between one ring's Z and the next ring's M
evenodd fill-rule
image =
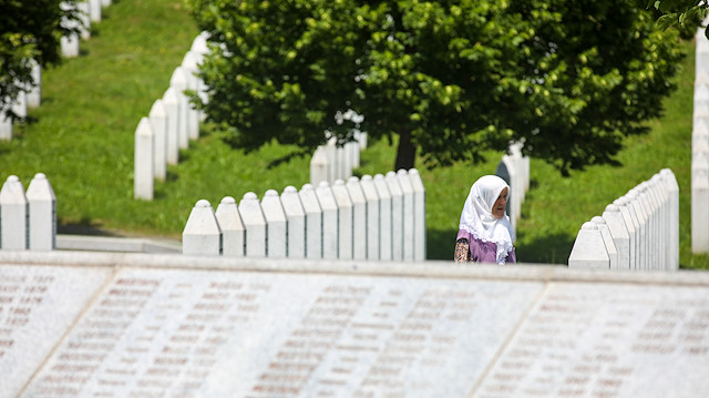
M524 141L567 173L613 163L672 89L677 33L645 1L191 0L212 49L193 100L247 150L345 142L352 110L400 136L395 169Z

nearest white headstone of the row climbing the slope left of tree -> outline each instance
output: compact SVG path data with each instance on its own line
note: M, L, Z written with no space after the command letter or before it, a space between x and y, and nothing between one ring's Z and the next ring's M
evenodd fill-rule
M137 200L153 200L154 175L153 153L155 135L147 118L142 118L135 130L135 167L133 173L134 197Z

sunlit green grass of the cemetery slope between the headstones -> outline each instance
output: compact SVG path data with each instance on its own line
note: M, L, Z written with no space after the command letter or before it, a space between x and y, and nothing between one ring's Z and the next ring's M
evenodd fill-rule
M168 88L174 68L197 29L179 1L119 1L104 9L81 55L43 71L42 104L28 123L0 143L2 178L27 184L45 173L58 197L59 232L178 239L199 198L215 207L224 196L282 192L309 182L309 156L279 160L292 147L268 145L253 153L232 150L219 132L203 126L201 139L168 167L152 202L133 200L134 132ZM666 114L644 136L627 140L623 166L593 166L564 178L543 161L531 162L531 190L517 226L517 257L524 263L564 264L580 225L639 182L669 167L680 187L680 265L709 268L709 256L690 252L690 161L693 43ZM386 173L395 142L370 142L359 175ZM427 188L428 257L450 259L458 221L471 184L495 172L501 153L483 164L419 170Z

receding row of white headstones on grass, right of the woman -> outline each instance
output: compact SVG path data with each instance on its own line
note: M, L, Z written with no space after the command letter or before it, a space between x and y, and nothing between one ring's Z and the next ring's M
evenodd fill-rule
M677 271L679 185L662 169L582 225L569 268Z

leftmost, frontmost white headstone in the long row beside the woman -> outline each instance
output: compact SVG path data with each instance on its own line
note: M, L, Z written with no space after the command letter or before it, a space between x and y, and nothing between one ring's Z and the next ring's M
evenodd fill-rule
M208 201L197 201L189 212L182 233L182 253L199 256L222 254L222 229Z

